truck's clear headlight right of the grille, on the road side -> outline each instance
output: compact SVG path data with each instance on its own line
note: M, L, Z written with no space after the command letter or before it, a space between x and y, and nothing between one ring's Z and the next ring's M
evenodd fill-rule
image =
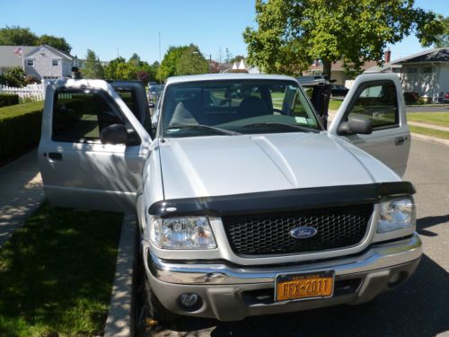
M415 205L411 199L388 200L381 203L377 233L390 232L415 225Z

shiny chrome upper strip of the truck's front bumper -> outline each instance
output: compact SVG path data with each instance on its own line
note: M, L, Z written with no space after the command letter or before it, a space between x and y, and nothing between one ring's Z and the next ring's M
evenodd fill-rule
M229 285L272 283L277 274L287 272L310 272L334 270L335 275L348 275L380 270L417 260L422 253L421 240L415 233L411 237L389 244L378 244L365 253L332 262L294 266L254 268L230 267L225 264L188 264L163 262L149 247L145 247L145 269L156 279L175 284Z

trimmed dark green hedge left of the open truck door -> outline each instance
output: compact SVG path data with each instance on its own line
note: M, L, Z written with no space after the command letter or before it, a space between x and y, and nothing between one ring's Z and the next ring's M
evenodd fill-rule
M22 155L40 140L43 102L0 108L0 159Z

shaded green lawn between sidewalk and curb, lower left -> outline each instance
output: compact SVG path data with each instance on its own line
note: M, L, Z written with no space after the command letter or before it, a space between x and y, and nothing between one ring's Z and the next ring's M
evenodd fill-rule
M121 220L44 202L0 248L0 336L101 334Z

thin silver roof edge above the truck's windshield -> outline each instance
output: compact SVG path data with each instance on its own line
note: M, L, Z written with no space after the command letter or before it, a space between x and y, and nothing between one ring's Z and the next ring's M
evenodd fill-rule
M202 82L202 81L226 81L226 80L289 80L295 81L295 77L286 75L265 75L265 74L203 74L203 75L186 75L173 76L167 79L167 85L188 83L188 82Z

